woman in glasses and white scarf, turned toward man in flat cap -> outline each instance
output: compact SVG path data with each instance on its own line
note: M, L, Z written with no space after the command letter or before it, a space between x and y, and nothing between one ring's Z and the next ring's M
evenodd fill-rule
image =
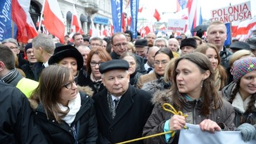
M78 91L69 68L50 65L42 70L30 105L49 143L96 143L94 101Z

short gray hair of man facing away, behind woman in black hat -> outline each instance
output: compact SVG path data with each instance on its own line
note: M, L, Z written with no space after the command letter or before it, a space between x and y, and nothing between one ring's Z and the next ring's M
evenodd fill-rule
M35 49L41 47L47 53L50 53L52 55L54 52L55 43L51 35L45 35L43 33L40 33L32 40L32 47Z

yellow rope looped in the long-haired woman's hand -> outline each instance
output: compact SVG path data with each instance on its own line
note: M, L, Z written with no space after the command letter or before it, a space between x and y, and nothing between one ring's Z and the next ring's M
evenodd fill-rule
M167 106L168 106L170 109L166 108ZM174 109L171 104L168 104L168 103L162 104L162 109L164 109L164 111L168 111L168 112L173 113L173 114L176 114L176 115L185 116L185 118L186 118L186 114L183 115L183 113L182 113L181 111L176 111L176 109ZM187 129L188 127L187 127L187 126L183 126L183 128L184 128L184 129ZM133 139L133 140L123 141L123 142L116 143L116 144L131 143L131 142L134 142L134 141L145 140L145 139L147 139L147 138L153 138L153 137L155 137L155 136L166 135L166 134L168 134L168 133L172 133L172 134L171 134L171 137L173 137L173 136L175 135L176 131L166 131L166 132L157 133L157 134L154 134L154 135L143 136L143 137L141 137L141 138L135 138L135 139Z

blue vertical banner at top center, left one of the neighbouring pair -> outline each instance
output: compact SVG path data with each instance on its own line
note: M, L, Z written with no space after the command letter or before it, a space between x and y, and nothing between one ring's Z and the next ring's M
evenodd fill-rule
M111 0L111 11L114 26L114 33L122 31L121 19L123 12L123 0Z

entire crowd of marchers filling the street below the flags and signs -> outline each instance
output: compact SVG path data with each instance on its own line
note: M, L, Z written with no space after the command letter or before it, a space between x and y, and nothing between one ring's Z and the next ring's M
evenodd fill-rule
M119 143L173 131L133 143L178 143L186 123L256 140L256 37L225 47L226 36L212 21L205 38L127 30L3 40L0 141Z

